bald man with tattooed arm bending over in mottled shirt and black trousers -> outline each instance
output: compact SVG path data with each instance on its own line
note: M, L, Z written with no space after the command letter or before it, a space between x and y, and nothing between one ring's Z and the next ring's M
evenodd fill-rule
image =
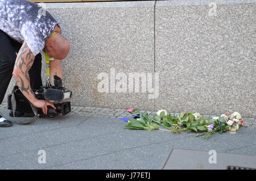
M0 104L12 75L24 96L47 114L46 100L35 98L32 90L42 86L41 68L44 52L49 61L50 77L63 78L61 60L69 52L70 44L61 35L57 21L49 14L40 13L42 7L25 0L0 0ZM11 121L0 115L0 127L11 126Z

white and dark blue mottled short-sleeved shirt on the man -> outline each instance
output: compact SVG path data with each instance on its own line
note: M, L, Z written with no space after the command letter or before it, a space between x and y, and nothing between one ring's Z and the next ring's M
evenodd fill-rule
M25 0L0 0L0 30L12 39L27 42L36 56L53 32L57 21L43 7Z

